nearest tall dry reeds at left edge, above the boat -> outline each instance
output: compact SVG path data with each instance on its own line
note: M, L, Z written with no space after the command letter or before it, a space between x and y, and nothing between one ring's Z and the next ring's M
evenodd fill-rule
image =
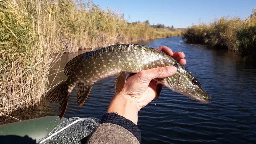
M47 90L52 48L59 42L52 20L41 16L45 12L38 5L0 2L0 114L39 105Z

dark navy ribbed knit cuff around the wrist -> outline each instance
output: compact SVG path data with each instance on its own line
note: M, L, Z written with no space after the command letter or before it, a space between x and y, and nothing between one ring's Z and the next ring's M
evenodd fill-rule
M125 117L120 116L116 113L106 113L105 115L103 115L100 121L100 124L103 124L103 123L112 123L127 129L137 138L137 140L140 143L141 141L140 129L136 124L134 124L129 119L126 119Z

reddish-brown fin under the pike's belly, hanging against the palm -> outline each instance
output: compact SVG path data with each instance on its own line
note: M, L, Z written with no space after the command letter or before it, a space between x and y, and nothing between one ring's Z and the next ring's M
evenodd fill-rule
M127 72L126 71L122 71L119 73L119 75L116 76L115 79L115 95L120 93L123 88L124 88L124 84L126 82L126 77L127 77Z

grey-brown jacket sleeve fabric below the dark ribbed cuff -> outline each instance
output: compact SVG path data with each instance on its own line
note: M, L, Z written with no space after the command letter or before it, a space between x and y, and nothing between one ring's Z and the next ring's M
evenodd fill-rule
M82 140L82 144L139 144L132 132L112 123L99 124L83 142Z

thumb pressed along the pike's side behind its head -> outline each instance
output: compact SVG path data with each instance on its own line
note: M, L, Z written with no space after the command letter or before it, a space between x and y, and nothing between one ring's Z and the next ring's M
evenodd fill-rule
M136 78L139 81L146 81L150 82L152 79L155 78L166 78L169 76L172 76L177 71L177 68L175 66L167 66L167 67L158 67L158 68L151 68L142 70L139 73L137 73Z

